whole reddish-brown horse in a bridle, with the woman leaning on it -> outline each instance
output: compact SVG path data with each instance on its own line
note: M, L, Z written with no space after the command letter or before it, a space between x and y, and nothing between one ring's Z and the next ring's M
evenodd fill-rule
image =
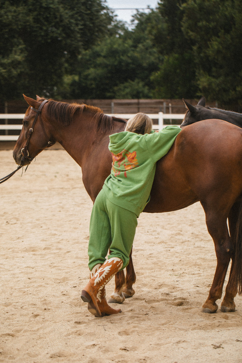
M94 201L111 170L108 135L122 131L125 122L92 106L53 100L44 103L39 97L37 101L28 97L25 100L31 107L26 111L13 150L16 163L28 165L50 144L59 142L81 166L83 183ZM234 297L238 290L242 293L241 193L242 130L227 122L214 119L185 127L168 154L157 162L151 200L145 212L175 211L197 201L204 208L217 256L212 287L203 305L208 313L218 308L216 300L222 296L230 259L232 265L221 310L235 311ZM125 291L132 295L135 281L132 260L126 281ZM122 302L123 272L116 274L115 284L112 297Z

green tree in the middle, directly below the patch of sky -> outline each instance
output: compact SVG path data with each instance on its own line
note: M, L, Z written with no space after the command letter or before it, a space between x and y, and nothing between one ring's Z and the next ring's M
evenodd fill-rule
M82 53L71 97L152 97L151 74L158 70L160 58L147 32L149 14L137 13L134 20L134 29L119 24L113 36Z

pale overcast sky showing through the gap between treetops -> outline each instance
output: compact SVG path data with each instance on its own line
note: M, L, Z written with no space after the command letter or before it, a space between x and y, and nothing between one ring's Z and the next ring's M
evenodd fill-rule
M158 0L106 0L109 8L156 8ZM132 15L136 13L135 10L114 10L119 20L127 21L130 23Z

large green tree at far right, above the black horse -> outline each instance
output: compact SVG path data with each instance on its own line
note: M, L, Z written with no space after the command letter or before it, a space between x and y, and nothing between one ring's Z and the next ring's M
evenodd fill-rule
M223 106L242 105L241 2L188 0L183 10L201 93Z

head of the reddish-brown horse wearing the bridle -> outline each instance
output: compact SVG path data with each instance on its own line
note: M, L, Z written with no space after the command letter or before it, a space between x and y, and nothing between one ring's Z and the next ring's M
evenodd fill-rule
M23 119L23 126L13 149L13 158L16 164L28 165L46 147L54 144L51 142L51 134L43 120L44 105L48 102L37 96L37 99L26 97L25 101L29 107Z

